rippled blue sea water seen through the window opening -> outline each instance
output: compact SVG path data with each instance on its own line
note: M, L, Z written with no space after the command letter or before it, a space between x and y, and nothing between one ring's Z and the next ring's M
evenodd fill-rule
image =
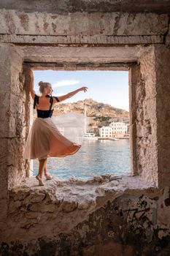
M47 169L57 178L91 178L104 174L124 174L130 170L130 140L83 140L77 153L67 157L50 157ZM38 159L33 175L37 175Z

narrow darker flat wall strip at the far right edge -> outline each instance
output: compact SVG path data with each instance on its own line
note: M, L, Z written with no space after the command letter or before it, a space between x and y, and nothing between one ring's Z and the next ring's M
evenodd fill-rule
M170 49L155 47L159 187L170 183Z

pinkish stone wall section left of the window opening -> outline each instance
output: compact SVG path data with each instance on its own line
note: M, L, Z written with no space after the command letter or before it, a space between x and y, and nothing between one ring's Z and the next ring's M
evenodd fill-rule
M22 61L12 45L0 45L1 77L1 217L7 211L8 189L25 176L23 161L24 92L20 83ZM7 214L7 212L6 212Z

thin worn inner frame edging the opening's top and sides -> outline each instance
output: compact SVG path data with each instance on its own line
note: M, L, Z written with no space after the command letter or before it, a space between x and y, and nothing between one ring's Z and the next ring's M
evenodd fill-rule
M132 176L138 175L137 164L136 164L136 129L135 129L135 118L136 111L133 106L134 102L134 81L133 81L133 69L134 67L138 67L139 64L137 61L129 61L122 63L104 63L100 62L98 64L93 62L84 62L84 63L74 63L70 61L66 62L58 62L58 63L49 63L49 62L34 62L34 61L24 61L23 62L23 70L26 75L25 79L25 88L26 94L29 94L29 78L28 71L29 69L34 70L69 70L69 71L77 71L77 70L112 70L112 71L128 71L128 99L129 99L129 121L130 121L130 154L131 154L131 166L130 172ZM31 99L31 95L29 96L29 100L26 103L28 105L28 113L30 115L28 124L27 124L27 135L29 127L32 124L33 117L33 99ZM28 95L27 95L28 98ZM26 178L30 178L33 176L33 159L26 160Z

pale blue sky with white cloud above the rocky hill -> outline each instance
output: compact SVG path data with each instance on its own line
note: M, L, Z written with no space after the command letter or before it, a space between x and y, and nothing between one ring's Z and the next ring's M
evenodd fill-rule
M82 86L88 91L79 91L63 103L77 102L83 99L94 99L107 103L115 108L129 110L128 71L54 71L34 70L34 90L39 94L39 81L49 82L53 87L53 95L61 96Z

